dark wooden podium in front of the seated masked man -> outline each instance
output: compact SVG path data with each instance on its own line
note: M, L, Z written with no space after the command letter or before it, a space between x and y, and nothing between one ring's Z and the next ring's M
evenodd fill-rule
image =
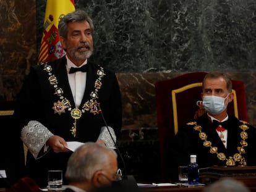
M246 186L255 186L256 166L212 166L199 169L201 183L213 183L221 177L233 177L243 182Z

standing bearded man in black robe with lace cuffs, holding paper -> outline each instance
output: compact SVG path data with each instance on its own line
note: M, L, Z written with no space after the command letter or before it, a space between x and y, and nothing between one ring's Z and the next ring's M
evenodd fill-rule
M25 176L41 187L47 185L48 170L65 173L72 154L67 141L112 148L122 124L116 75L88 59L92 19L75 10L61 19L58 29L66 56L31 67L14 112L15 131L28 148Z

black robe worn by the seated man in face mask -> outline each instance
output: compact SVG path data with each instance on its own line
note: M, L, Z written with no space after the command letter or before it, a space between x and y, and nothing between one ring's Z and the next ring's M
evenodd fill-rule
M228 141L227 148L224 147L218 133L216 132L216 127L214 127L211 120L208 119L207 114L203 114L201 117L198 117L195 122L197 125L202 127L202 131L207 134L207 141L211 141L211 146L218 148L218 152L223 152L228 159L229 156L234 156L237 151L237 147L241 147L241 128L239 125L243 123L240 122L236 117L229 115L228 122L223 127L228 130ZM248 124L247 124L248 125ZM249 129L246 130L248 133L247 143L248 146L245 146L245 154L242 154L245 157L247 165L256 165L256 130L254 127L248 125ZM200 168L210 167L212 165L226 165L226 161L221 161L218 159L216 154L210 152L209 147L203 146L203 141L199 138L199 131L194 130L194 125L185 125L184 127L179 128L179 131L176 136L174 136L173 141L171 142L171 151L170 158L173 162L172 170L177 175L177 166L179 165L188 165L190 161L190 154L197 154L197 163ZM171 173L173 174L173 173Z

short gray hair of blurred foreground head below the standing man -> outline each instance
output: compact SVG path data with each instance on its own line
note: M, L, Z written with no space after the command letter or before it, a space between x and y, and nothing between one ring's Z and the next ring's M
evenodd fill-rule
M68 182L88 181L93 174L109 167L109 154L117 157L116 151L98 143L87 142L69 157L65 177Z

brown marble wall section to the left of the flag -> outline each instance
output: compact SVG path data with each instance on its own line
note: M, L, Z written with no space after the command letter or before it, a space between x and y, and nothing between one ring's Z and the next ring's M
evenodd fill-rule
M16 98L36 63L35 0L0 0L0 101Z

